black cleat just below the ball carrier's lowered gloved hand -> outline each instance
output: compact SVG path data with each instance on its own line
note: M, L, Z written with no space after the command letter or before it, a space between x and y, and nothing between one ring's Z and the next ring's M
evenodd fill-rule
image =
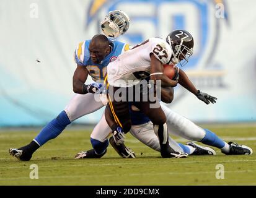
M136 158L135 152L126 147L125 144L117 145L113 137L109 139L110 144L122 158Z

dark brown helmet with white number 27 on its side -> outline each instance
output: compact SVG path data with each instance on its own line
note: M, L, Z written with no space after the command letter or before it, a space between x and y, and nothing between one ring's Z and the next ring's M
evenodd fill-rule
M192 35L185 30L174 30L166 38L172 48L172 59L174 64L180 63L180 66L185 66L188 59L193 54L194 41Z

